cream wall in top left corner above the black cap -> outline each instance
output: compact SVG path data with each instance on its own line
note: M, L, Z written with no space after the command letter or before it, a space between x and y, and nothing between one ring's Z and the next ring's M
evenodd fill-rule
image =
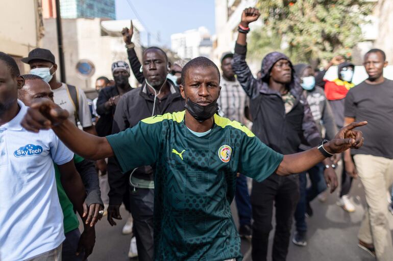
M28 66L24 66L17 57L27 56L39 45L38 1L2 1L0 17L0 51L16 57L22 73L28 72Z

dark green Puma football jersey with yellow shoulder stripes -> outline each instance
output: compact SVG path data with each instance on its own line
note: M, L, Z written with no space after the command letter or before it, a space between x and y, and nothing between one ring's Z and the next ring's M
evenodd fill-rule
M214 115L197 137L185 111L142 120L107 136L123 172L155 164L155 260L241 260L230 204L236 174L257 181L271 175L283 156L238 122Z

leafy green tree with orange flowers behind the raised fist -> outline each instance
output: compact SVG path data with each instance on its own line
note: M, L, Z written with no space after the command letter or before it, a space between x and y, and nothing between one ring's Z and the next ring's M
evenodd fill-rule
M282 51L295 63L330 60L339 54L350 59L352 48L362 41L360 25L366 23L374 4L370 0L259 0L264 25L251 34L251 52L281 45L287 46ZM268 35L272 37L266 39Z

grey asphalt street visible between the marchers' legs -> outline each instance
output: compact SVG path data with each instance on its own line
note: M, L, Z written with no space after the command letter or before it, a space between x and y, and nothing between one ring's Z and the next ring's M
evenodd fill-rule
M364 213L364 193L359 180L353 184L352 194L356 211L347 213L335 205L336 193L329 195L324 203L317 199L311 204L314 215L308 221L308 246L298 247L290 243L287 261L317 260L317 261L373 261L368 253L357 247L357 232ZM385 200L385 199L383 199ZM236 209L233 205L233 212ZM122 209L123 220L117 226L111 227L103 219L97 224L96 245L90 261L128 261L127 257L130 236L121 235L121 228L126 222L127 212ZM236 214L234 215L236 217ZM236 218L235 218L236 220ZM390 216L390 227L393 227L393 216ZM273 241L273 231L270 241ZM271 249L272 245L269 246ZM245 261L251 261L250 243L242 240L242 252ZM271 260L269 253L268 260Z

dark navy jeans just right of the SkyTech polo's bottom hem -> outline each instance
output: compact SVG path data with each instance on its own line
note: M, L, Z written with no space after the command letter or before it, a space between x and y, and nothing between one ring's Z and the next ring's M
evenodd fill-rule
M78 250L79 239L81 233L79 229L73 229L64 234L65 240L63 241L63 250L61 251L61 258L63 261L82 261L85 256L85 251L76 255Z

